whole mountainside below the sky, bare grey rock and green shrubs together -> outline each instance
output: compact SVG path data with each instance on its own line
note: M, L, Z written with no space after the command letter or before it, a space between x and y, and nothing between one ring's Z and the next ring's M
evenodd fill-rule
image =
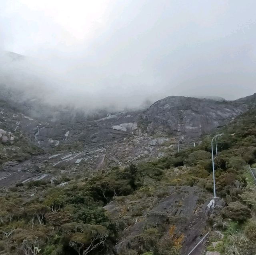
M2 100L0 254L254 254L254 99L170 96L81 121Z

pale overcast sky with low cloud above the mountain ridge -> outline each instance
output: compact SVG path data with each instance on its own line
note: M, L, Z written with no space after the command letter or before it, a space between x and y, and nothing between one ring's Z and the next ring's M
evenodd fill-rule
M0 49L29 57L15 84L51 101L233 100L256 92L255 10L255 0L1 0Z

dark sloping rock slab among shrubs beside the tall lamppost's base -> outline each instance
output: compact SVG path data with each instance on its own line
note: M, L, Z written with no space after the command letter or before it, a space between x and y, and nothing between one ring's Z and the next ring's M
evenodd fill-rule
M181 254L188 254L202 238L202 233L208 231L207 203L198 203L202 190L198 187L189 186L170 186L168 195L152 206L152 209L145 212L134 225L124 229L122 238L115 246L116 254L129 254L129 249L140 246L138 236L145 229L152 226L162 226L165 234L162 239L167 237L182 240ZM126 203L126 201L124 201ZM122 203L112 201L104 207L115 220L122 210ZM195 213L196 212L196 213ZM175 237L174 237L175 236ZM192 255L201 255L204 251L206 240L204 240L194 250Z

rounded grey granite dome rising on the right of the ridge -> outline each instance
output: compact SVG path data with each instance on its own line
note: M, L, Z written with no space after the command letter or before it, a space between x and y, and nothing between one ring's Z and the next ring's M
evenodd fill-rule
M160 130L197 137L226 124L247 109L244 103L169 96L150 106L141 118L149 133Z

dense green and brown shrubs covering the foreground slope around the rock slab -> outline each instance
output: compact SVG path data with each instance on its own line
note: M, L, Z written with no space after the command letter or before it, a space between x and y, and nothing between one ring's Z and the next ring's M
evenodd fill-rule
M256 163L256 110L242 114L219 130L215 160L217 195L223 207L209 217L217 223L208 250L221 254L253 255L256 250L256 189L248 164ZM31 181L0 194L0 254L113 254L123 231L168 195L170 185L197 186L212 193L210 140L157 161L106 169L86 176L52 182ZM63 183L63 185L61 184ZM118 204L119 213L105 206ZM176 224L179 224L176 223ZM181 224L181 223L180 223ZM148 226L136 237L136 249L123 255L175 255L184 236L175 227Z

